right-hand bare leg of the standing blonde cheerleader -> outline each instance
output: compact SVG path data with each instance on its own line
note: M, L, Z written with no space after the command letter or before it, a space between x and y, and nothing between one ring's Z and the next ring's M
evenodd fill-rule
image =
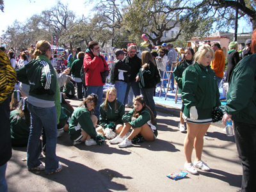
M195 142L194 142L195 154L196 154L195 161L201 160L203 147L204 147L204 135L207 132L210 125L211 123L202 124L200 126L200 131L196 135Z

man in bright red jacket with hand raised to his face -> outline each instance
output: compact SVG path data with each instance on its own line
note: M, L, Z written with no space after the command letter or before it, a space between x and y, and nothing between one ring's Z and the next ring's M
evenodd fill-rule
M100 47L98 42L89 42L89 47L84 56L85 85L87 93L98 95L97 106L95 106L95 116L99 119L100 104L103 96L103 85L106 83L106 77L109 74L108 64L104 56L99 54Z

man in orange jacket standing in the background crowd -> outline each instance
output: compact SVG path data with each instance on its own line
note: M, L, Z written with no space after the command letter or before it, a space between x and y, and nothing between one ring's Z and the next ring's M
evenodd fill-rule
M223 78L225 68L225 55L218 42L213 42L211 47L215 54L214 60L211 63L211 68L215 72L217 85L220 86L220 82Z

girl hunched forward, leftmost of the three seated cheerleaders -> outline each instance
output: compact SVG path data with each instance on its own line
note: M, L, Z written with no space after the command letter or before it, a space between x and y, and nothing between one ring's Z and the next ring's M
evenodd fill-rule
M97 101L97 95L94 93L88 95L72 114L68 125L68 134L70 135L70 140L73 141L73 145L77 145L81 142L85 142L86 146L97 145L96 141L92 139L97 136L95 127L98 118L92 115L94 112L93 108L97 105Z

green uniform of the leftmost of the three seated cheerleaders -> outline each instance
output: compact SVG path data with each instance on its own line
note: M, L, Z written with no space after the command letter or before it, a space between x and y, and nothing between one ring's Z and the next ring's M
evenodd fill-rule
M90 111L87 108L76 108L70 118L68 125L70 140L79 142L83 135L81 131L85 131L91 138L97 136L95 127L91 119Z

